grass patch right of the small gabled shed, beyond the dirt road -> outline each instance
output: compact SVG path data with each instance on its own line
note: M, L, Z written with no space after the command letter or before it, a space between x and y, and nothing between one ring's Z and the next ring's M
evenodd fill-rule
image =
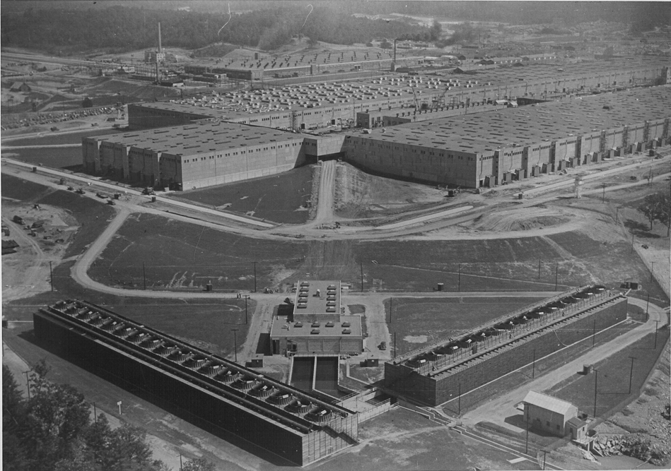
M596 416L607 417L622 409L641 393L650 370L664 350L669 338L667 328L660 329L657 334L651 333L633 345L620 350L611 357L594 365L598 374L575 374L562 381L554 388L545 391L559 399L567 400L578 406L578 410L587 412L594 417L594 392L597 387ZM634 357L634 368L631 369L631 357ZM629 392L629 375L631 374L631 393ZM597 378L598 376L598 378Z

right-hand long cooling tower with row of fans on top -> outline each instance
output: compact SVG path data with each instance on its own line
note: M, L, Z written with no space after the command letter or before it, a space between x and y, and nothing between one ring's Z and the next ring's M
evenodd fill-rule
M446 403L624 321L626 305L602 286L569 290L385 362L385 389L425 405Z

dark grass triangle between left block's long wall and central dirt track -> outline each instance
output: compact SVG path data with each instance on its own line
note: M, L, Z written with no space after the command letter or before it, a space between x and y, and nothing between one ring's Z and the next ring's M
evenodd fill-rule
M305 165L279 175L245 180L211 188L179 193L180 199L206 205L227 205L236 213L254 212L256 217L286 224L308 220L308 210L300 209L310 199L313 167Z

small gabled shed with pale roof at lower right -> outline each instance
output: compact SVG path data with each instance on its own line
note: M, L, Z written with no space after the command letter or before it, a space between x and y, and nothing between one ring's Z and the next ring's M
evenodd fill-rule
M566 436L568 421L578 417L578 407L551 395L529 391L522 402L525 423L556 436Z

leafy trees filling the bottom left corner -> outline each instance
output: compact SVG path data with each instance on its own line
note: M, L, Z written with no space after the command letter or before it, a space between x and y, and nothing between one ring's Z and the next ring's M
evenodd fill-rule
M24 398L8 366L2 365L2 467L6 471L168 471L151 459L146 431L122 423L112 429L105 414L91 420L83 394L47 380L42 360L28 374ZM214 471L204 459L183 471Z

